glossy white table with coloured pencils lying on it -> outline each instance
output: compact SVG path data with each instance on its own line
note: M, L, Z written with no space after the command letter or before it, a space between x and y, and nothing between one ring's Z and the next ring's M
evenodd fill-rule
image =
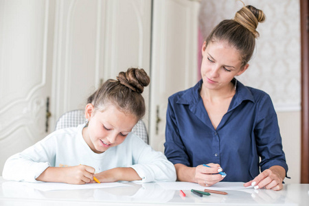
M5 183L5 184L3 184ZM286 184L272 190L229 190L227 195L199 197L190 190L165 190L157 183L126 183L128 187L43 192L10 185L0 177L0 205L309 205L309 184Z

